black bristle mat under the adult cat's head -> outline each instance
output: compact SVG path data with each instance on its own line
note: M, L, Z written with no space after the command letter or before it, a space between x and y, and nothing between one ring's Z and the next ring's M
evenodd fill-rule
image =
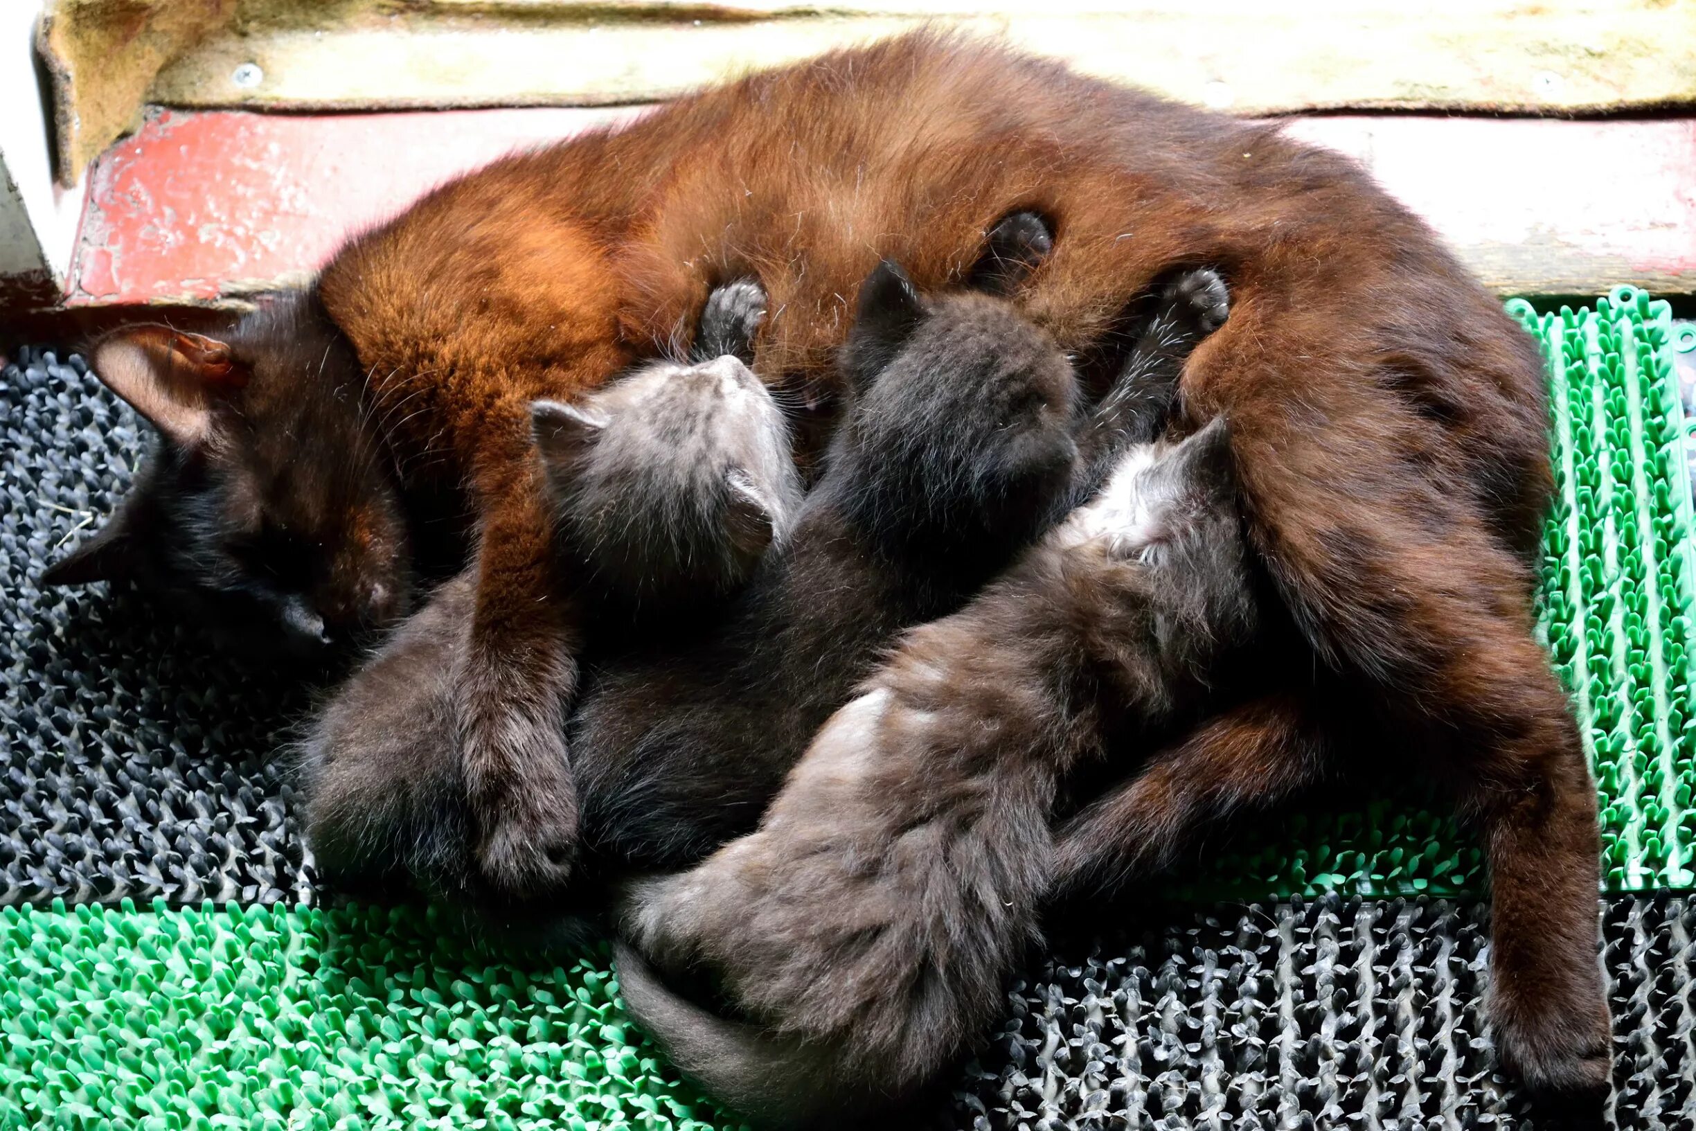
M41 573L105 521L146 426L81 358L0 370L0 905L307 899L278 751L298 675L214 651L166 602Z

